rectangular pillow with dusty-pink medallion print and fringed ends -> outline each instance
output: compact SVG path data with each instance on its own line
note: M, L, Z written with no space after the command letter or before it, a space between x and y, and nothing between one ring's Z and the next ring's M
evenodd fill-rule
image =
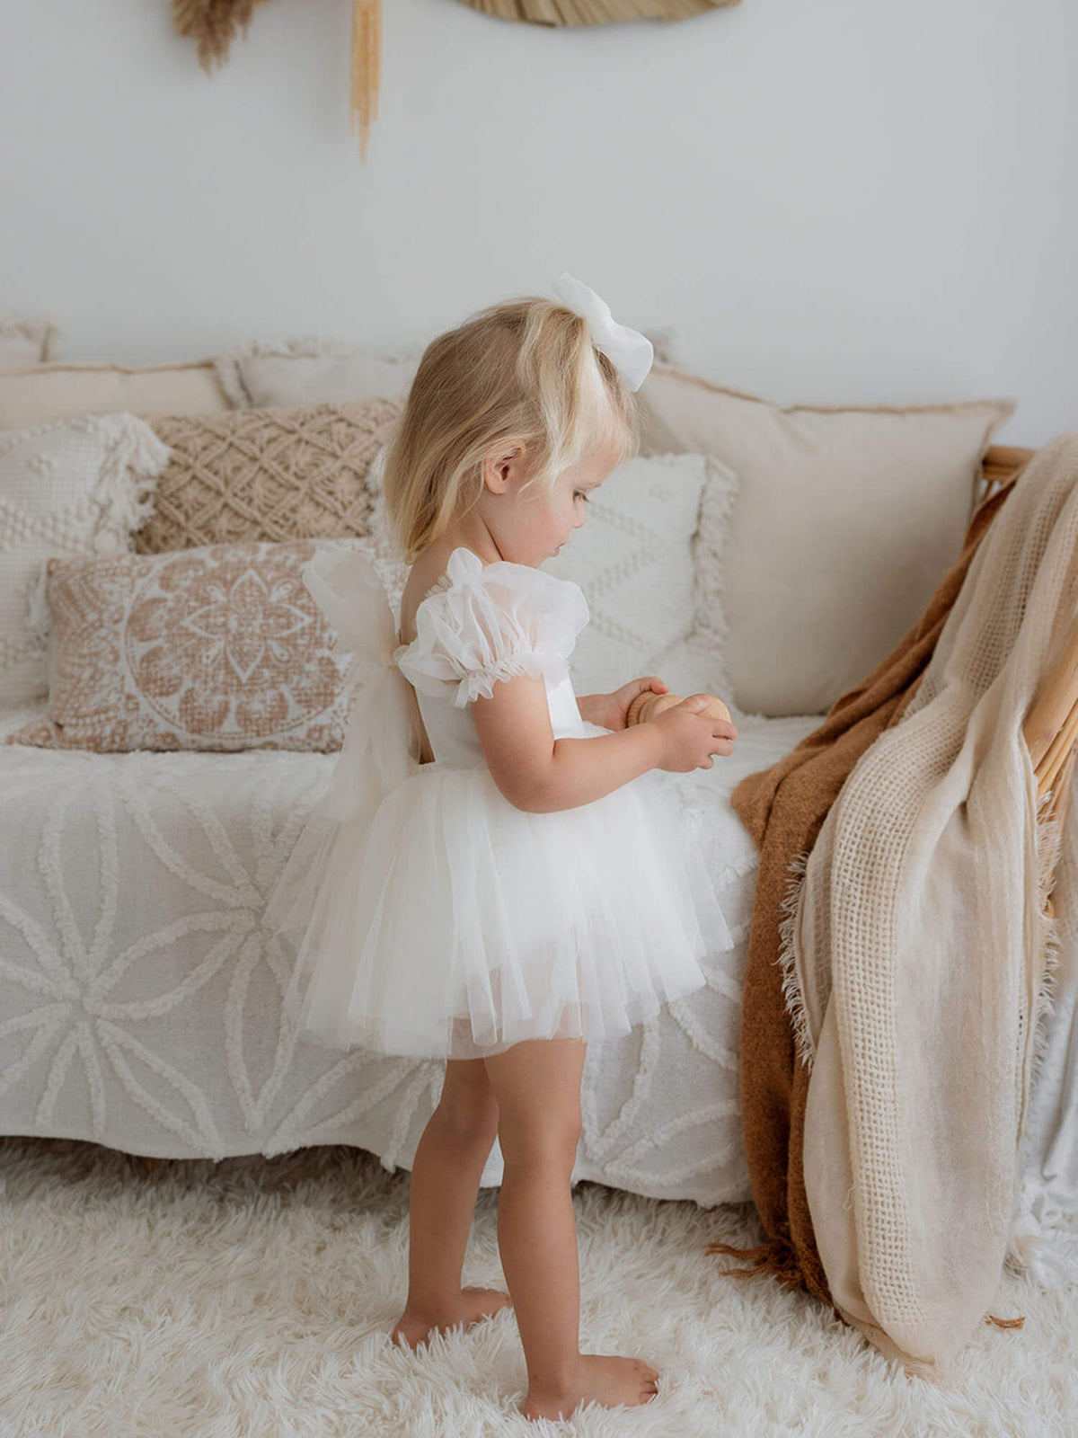
M322 542L49 561L49 705L6 742L339 749L351 656L300 575Z

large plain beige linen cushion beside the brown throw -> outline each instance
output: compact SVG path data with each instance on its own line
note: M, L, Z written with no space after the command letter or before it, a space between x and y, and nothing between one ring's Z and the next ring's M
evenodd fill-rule
M924 611L966 533L1009 398L770 404L670 365L640 390L644 453L739 479L724 562L727 672L746 713L825 713Z

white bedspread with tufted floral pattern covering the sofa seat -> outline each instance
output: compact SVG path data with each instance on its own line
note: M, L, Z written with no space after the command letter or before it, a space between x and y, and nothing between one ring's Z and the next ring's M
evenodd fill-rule
M37 710L0 716L0 736ZM589 1048L575 1178L752 1198L737 1106L756 848L729 794L819 723L737 716L730 758L663 774L736 946L709 986ZM0 743L0 1133L267 1158L351 1143L408 1168L441 1064L332 1051L280 1022L263 896L333 754L89 754ZM484 1183L497 1183L494 1146Z

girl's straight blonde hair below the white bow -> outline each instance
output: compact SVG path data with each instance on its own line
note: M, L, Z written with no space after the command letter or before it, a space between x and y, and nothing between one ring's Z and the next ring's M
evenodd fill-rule
M525 447L522 495L548 496L591 447L640 452L640 411L582 315L522 296L490 305L423 352L385 456L385 521L413 562L483 490L483 460Z

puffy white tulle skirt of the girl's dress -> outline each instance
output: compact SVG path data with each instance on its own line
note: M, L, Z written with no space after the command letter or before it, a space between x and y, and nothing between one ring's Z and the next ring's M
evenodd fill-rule
M431 1058L622 1035L733 945L678 823L654 771L530 814L486 765L441 761L372 812L312 818L266 909L285 1012L333 1048Z

